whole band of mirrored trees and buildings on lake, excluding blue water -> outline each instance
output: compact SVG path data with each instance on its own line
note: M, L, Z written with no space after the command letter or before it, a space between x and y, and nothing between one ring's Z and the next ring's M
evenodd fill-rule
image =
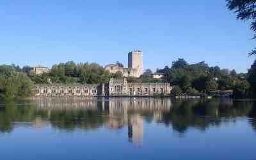
M256 131L256 108L253 101L232 99L33 99L11 102L0 107L0 132L10 133L15 127L47 126L60 131L87 131L99 128L127 129L131 143L142 144L144 124L164 124L185 136L189 128L207 131L248 118Z

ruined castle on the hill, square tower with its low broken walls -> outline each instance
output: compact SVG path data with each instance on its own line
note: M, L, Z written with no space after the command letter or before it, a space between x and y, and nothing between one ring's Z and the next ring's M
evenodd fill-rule
M115 74L122 72L124 77L140 77L143 74L143 52L132 51L128 54L128 68L116 64L106 65L105 70Z

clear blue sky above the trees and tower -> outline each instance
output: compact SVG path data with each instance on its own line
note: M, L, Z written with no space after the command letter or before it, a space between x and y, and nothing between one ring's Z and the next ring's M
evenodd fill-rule
M236 20L225 0L3 0L0 64L52 65L120 61L144 52L145 68L177 58L246 72L255 56L250 23Z

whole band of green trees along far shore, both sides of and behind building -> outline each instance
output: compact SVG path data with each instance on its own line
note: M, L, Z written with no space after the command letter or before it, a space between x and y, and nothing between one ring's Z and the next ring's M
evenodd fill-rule
M116 62L120 64L119 62ZM59 63L49 72L35 74L32 67L20 68L16 65L0 65L0 98L17 99L31 97L34 84L44 83L106 83L111 77L122 78L122 72L111 74L97 63ZM171 67L157 68L162 79L154 79L152 70L145 70L139 78L127 77L129 83L168 82L173 87L170 97L200 96L229 97L220 95L222 91L232 90L232 97L239 99L255 98L256 61L248 73L237 74L236 70L209 67L201 61L189 64L182 58L173 61ZM218 92L219 91L219 92Z

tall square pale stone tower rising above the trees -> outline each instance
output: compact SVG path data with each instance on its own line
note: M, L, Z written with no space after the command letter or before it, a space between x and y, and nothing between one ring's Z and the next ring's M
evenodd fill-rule
M140 77L143 74L143 52L132 51L128 54L128 68L136 69L134 77Z

